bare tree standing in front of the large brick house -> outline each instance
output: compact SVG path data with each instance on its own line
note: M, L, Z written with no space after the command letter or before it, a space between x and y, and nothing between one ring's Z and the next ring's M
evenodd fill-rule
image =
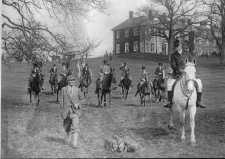
M168 42L169 55L173 52L173 43L176 36L183 35L187 30L191 29L193 24L199 23L197 20L198 11L196 10L199 1L191 0L151 0L155 5L163 9L162 13L158 14L159 22L154 26L156 29L153 32L154 35L163 37ZM151 7L145 6L143 9L139 9L139 12L148 15L149 10L153 10ZM185 23L181 23L184 19L189 19Z

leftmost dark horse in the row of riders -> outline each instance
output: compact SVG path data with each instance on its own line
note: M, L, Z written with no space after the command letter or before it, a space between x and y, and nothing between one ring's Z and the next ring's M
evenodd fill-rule
M35 99L37 99L37 105L40 102L40 92L42 87L42 77L39 73L33 74L32 79L29 81L29 88L28 93L30 96L30 103L32 103L32 94L34 95Z

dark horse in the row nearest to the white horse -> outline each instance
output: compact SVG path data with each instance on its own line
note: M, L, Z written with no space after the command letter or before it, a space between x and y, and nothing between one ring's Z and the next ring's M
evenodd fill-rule
M165 79L155 78L152 83L153 83L153 94L155 96L155 99L156 101L158 100L159 102L161 102L163 99L163 94L166 91Z

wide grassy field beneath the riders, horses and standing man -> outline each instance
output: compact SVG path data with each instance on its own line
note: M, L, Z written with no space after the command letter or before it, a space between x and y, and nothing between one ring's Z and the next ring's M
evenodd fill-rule
M119 90L114 90L112 106L99 108L92 83L89 104L82 107L81 138L77 149L64 142L55 96L41 94L39 107L29 105L26 86L31 66L2 65L2 157L225 157L225 67L216 65L215 59L199 61L197 70L203 81L203 103L207 109L197 110L197 145L191 147L189 126L185 143L180 141L179 129L168 130L168 110L163 108L163 103L142 107L134 98L141 64L153 73L157 63L115 57L116 70L122 61L128 62L134 82L128 100L122 101ZM94 79L101 62L101 58L89 60ZM43 72L44 86L49 90L46 66ZM178 122L175 124L178 128ZM128 135L141 148L134 153L108 152L104 149L104 140L113 134Z

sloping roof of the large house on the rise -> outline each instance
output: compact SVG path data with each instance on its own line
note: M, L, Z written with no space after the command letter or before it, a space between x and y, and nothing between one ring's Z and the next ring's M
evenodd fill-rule
M129 18L125 20L124 22L120 23L119 25L115 26L112 30L114 31L114 30L141 26L143 25L143 23L146 23L147 21L148 22L150 21L150 19L147 16Z

